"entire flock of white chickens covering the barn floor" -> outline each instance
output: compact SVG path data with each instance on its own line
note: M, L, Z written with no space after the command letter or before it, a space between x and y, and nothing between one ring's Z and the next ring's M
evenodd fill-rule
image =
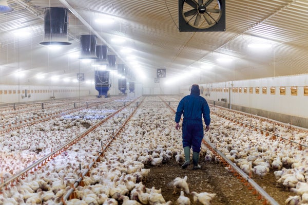
M175 97L166 96L164 100L179 101ZM158 97L145 98L126 124L125 131L112 140L104 151L104 156L95 162L89 174L83 177L82 184L74 189L70 200L65 201L65 204L172 203L165 201L161 189L146 188L143 184L150 172L144 168L145 164L157 166L171 158L177 162L183 160L181 133L174 128L174 113L158 101ZM33 161L50 153L52 149L84 132L85 125L97 123L121 106L123 103L105 103L95 109L84 109L1 136L0 177L5 180L20 172ZM177 103L172 103L172 106L176 108ZM0 204L61 202L61 198L72 188L72 184L102 151L102 145L111 141L134 109L135 104L127 105L40 170L29 174L25 179L18 179L10 189L2 190ZM218 108L211 109L219 111ZM255 120L257 119L249 121L257 126L258 122ZM286 203L308 203L307 151L278 138L273 140L253 129L215 115L211 115L210 126L210 132L205 137L244 172L263 177L274 170L277 182L296 194L288 198ZM279 129L283 132L285 128L276 125L276 132ZM296 136L301 140L307 140L302 134ZM215 160L215 156L204 147L201 155L205 156L205 160ZM194 196L195 203L200 204L209 204L216 196L215 193L189 193L185 177L178 177L171 184L175 189L181 190L178 200L173 201L177 204L190 204L188 194Z

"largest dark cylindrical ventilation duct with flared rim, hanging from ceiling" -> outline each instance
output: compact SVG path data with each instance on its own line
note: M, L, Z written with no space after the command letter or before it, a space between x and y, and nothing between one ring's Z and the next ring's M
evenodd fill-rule
M67 38L68 9L51 7L44 10L44 40L42 45L70 45Z

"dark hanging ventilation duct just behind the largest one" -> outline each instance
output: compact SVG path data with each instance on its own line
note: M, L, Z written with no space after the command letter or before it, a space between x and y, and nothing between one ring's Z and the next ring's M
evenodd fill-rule
M96 36L80 36L80 59L97 59L96 55Z

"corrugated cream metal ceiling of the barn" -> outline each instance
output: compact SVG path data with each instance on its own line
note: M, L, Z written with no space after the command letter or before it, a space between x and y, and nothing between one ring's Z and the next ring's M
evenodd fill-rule
M198 83L308 73L306 0L226 0L226 31L223 32L179 32L178 1L174 0L7 2L14 11L0 14L2 84L16 83L10 73L20 69L29 73L27 80L18 80L21 84L38 83L33 76L41 72L71 78L85 72L86 78L92 78L91 65L71 60L67 53L79 51L80 35L93 32L99 35L98 44L107 44L118 55L118 63L136 69L121 53L124 47L132 48L139 62L137 69L143 69L149 78L156 78L157 68L166 68L167 78L199 69L198 76L192 79L198 79ZM70 9L68 33L72 45L57 53L39 44L44 37L44 8L47 7ZM113 16L114 24L95 24L94 17L101 14ZM13 31L21 28L30 29L31 35L14 36ZM123 45L115 44L111 42L114 36L122 36L127 41ZM261 52L247 47L248 43L263 41L273 46ZM225 55L233 58L233 62L217 61ZM204 64L213 67L202 68Z

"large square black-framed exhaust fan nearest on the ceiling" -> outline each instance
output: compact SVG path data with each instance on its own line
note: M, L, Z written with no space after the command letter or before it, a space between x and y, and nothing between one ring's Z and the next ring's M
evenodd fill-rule
M179 31L225 31L225 0L179 0Z

